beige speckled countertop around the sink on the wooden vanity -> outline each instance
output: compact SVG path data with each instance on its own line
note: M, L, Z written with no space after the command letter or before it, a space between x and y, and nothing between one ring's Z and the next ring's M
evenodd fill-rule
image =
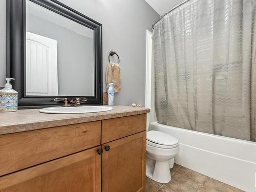
M0 112L0 135L138 115L148 112L150 112L150 109L147 108L121 105L113 106L113 110L111 111L83 114L47 114L40 113L39 109Z

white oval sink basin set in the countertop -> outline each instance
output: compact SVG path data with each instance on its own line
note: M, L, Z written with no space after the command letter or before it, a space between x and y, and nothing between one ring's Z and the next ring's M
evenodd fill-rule
M75 113L95 113L113 110L110 106L53 106L51 108L40 109L41 113L75 114Z

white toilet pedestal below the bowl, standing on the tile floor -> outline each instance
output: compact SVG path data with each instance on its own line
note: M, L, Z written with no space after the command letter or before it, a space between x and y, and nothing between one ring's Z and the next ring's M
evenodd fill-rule
M146 176L159 183L168 183L172 179L170 176L169 160L155 161L147 156Z

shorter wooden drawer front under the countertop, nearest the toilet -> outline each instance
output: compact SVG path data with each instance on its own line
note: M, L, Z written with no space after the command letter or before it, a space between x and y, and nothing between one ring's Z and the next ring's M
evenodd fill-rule
M146 130L146 114L102 120L101 143Z

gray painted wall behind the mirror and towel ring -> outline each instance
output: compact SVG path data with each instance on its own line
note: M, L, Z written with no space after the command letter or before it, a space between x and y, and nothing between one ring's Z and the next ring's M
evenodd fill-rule
M5 4L2 0L0 2L0 13L4 14ZM144 0L60 0L60 2L103 25L104 90L109 52L114 50L120 57L122 90L115 94L115 104L127 105L132 102L144 104L146 29L151 30L153 22L159 18L159 15ZM2 26L0 42L3 41L2 36L5 35L6 30ZM3 39L5 42L5 37ZM0 52L0 69L6 65L3 56L5 50ZM0 79L4 77L5 74L1 72Z

